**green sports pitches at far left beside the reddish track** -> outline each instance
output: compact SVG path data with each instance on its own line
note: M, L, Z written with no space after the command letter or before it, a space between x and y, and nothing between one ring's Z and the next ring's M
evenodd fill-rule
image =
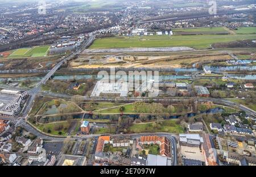
M24 58L24 57L44 57L47 56L49 45L43 45L32 48L21 48L14 50L8 58Z

